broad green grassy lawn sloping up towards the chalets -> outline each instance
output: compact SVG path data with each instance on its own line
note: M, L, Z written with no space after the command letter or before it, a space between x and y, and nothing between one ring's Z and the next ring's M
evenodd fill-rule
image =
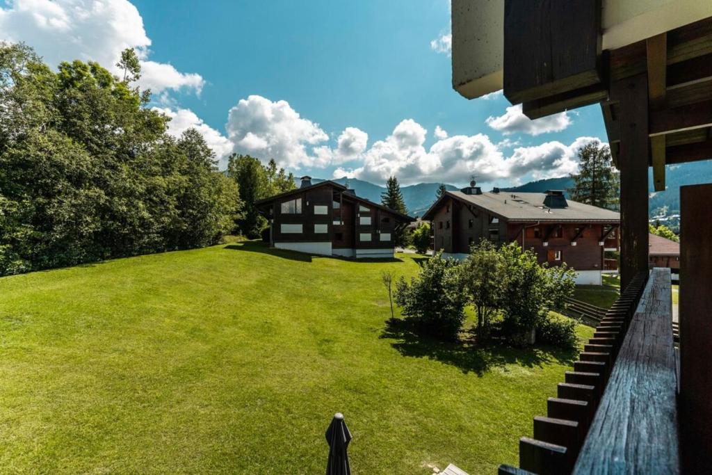
M516 464L575 355L387 328L380 273L416 259L236 243L1 278L2 471L318 474L335 412L355 474Z

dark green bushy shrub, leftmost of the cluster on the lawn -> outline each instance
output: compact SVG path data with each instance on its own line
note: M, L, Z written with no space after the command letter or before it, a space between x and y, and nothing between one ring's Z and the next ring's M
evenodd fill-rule
M459 266L439 252L426 261L417 277L396 284L396 303L402 314L436 338L454 340L465 319L467 298L459 286Z

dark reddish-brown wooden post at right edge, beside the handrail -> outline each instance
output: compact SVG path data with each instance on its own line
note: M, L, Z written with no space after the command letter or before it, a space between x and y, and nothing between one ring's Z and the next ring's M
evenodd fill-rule
M712 466L712 184L681 187L680 429L685 473Z

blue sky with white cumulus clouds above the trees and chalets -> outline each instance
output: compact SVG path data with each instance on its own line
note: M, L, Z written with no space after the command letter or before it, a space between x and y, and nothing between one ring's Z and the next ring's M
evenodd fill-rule
M243 152L314 177L506 185L575 171L575 148L606 140L597 106L530 122L502 95L458 95L431 45L449 16L446 0L15 0L0 38L53 64L137 48L171 132L197 127L222 166Z

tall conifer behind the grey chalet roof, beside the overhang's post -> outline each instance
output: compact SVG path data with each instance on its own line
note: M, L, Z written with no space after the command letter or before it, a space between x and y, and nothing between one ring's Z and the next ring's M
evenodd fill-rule
M595 207L618 209L620 184L607 145L590 142L578 150L579 173L572 174L571 199Z

